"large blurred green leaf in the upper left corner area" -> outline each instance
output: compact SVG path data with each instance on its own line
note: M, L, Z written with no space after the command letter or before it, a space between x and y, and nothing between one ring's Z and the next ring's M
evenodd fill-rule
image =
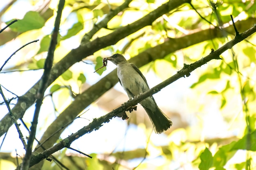
M7 22L9 24L11 21ZM22 20L9 26L12 31L24 33L29 30L39 29L45 25L45 20L38 12L28 11Z

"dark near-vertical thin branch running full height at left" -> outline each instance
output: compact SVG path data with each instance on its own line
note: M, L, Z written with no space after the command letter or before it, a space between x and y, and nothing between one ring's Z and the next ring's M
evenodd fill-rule
M52 69L52 63L53 63L53 57L54 57L54 51L56 48L56 44L57 44L57 37L58 37L58 31L59 31L59 26L61 23L61 14L64 8L64 4L65 4L65 0L60 0L59 4L58 4L58 11L57 11L57 16L56 16L56 20L54 23L54 30L52 32L52 38L51 38L51 42L50 42L50 46L49 46L49 50L47 53L47 57L45 59L45 65L44 65L44 73L43 76L41 78L41 82L38 88L38 92L37 92L37 100L36 100L36 109L35 109L35 113L34 113L34 118L31 124L31 131L30 131L30 135L29 135L29 139L27 142L27 151L25 154L25 157L22 161L22 165L21 165L21 170L28 170L29 169L29 162L30 162L30 157L32 154L32 145L36 136L36 126L38 123L38 116L39 116L39 111L40 111L40 107L42 105L43 102L43 96L45 93L45 89L47 88L47 83L48 83L48 78L49 78L49 74L50 71Z

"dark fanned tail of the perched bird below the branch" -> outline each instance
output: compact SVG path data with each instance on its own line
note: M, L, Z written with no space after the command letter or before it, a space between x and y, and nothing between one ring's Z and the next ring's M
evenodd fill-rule
M150 108L145 106L143 107L148 113L156 133L162 133L172 126L173 122L159 109L156 104Z

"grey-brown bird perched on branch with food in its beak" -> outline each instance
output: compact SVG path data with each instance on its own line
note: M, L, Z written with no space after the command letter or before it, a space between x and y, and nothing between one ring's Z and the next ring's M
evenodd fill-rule
M107 60L112 61L112 63L117 65L119 82L128 94L129 99L132 99L149 89L146 78L141 71L136 65L126 61L124 56L121 54L114 54L111 57L108 57ZM153 96L142 100L140 104L148 113L156 133L162 133L172 126L172 121L159 109Z

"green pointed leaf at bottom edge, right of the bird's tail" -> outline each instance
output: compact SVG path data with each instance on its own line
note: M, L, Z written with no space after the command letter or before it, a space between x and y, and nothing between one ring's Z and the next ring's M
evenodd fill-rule
M213 165L213 156L208 148L200 154L201 163L199 164L200 170L209 170Z

